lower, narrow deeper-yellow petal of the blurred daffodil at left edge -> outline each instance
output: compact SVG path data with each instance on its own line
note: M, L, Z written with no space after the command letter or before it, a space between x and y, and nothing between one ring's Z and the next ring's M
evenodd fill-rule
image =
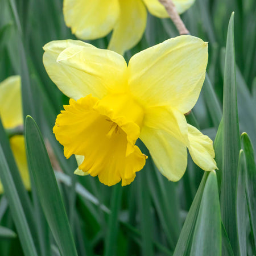
M30 176L27 166L26 148L23 135L15 135L10 138L10 146L14 159L19 168L20 176L26 189L30 189Z

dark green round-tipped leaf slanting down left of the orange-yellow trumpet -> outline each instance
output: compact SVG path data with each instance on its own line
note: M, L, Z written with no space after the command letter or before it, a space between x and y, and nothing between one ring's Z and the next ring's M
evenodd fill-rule
M46 147L38 126L30 116L26 118L25 137L28 165L53 237L62 255L75 256L75 242Z

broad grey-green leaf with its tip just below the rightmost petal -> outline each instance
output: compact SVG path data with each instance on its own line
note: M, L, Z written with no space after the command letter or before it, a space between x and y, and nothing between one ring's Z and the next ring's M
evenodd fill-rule
M205 184L193 234L191 255L221 255L221 213L215 172L210 172Z

